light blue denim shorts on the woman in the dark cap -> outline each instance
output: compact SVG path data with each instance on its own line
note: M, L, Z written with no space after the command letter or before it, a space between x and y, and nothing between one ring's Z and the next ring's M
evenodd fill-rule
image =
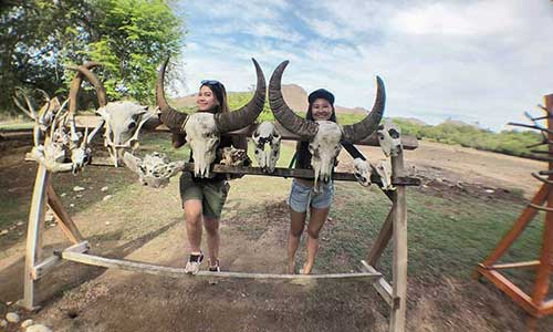
M321 193L315 193L313 186L304 185L294 178L288 205L296 212L305 212L310 206L316 209L328 208L333 198L334 185L332 181L326 185L322 184Z

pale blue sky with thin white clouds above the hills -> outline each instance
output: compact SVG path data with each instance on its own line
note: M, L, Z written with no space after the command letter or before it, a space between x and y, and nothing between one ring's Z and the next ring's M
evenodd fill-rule
M230 0L175 9L186 24L179 95L205 79L247 91L255 83L251 58L268 83L290 60L283 84L327 89L337 105L371 110L379 75L385 116L501 131L525 121L524 111L541 115L535 105L553 93L553 1Z

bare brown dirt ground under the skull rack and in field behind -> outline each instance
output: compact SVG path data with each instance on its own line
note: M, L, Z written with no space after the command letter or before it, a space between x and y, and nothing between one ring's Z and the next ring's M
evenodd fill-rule
M30 199L35 166L22 164L25 149L0 147L0 190ZM362 149L373 162L383 157L379 148ZM540 162L427 142L407 152L406 160L409 173L419 176L424 186L437 188L436 195L449 195L444 188L457 187L477 197L513 199L520 194L531 197L540 183L530 173L546 168ZM340 167L348 163L344 158ZM116 176L135 181L124 169ZM112 193L101 188L109 187L109 180L111 175L97 167L80 178L55 176L56 183L66 183L56 190L69 193L64 204L88 238L91 251L184 267L186 230L177 195L128 186L104 201ZM237 180L236 188L247 187L248 181ZM74 185L85 187L85 194L93 197L86 207L83 197L70 199L73 194L67 188ZM289 186L290 179L268 179L265 188L250 191L260 201L254 212L242 212L240 199L246 194L231 190L221 225L223 270L283 272L288 207L282 188ZM272 195L267 188L281 189ZM177 193L175 180L163 190ZM11 230L17 236L0 237L0 313L15 310L13 303L22 297L24 229L18 226ZM44 251L51 252L67 241L58 227L48 226L44 245ZM467 288L476 291L467 295ZM63 262L39 282L38 290L39 298L45 299L42 309L19 312L54 331L387 331L389 318L386 304L367 282L215 283ZM431 284L409 280L407 325L408 331L420 332L521 331L523 322L521 310L489 284L444 278ZM6 331L20 330L12 324ZM553 331L553 326L542 324L540 331Z

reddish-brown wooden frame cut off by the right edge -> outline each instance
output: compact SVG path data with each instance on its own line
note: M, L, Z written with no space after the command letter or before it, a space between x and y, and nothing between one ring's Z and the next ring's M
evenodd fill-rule
M549 157L546 157L549 170L532 174L543 185L495 249L493 249L484 261L478 264L474 273L476 278L484 277L490 280L499 290L513 299L517 304L531 315L531 319L528 321L530 330L535 329L536 319L553 314L553 299L546 299L551 283L550 276L553 276L553 94L546 95L544 98L545 107L542 107L542 110L545 111L545 116L531 118L534 122L534 126L528 126L541 129L544 136L542 145L549 145ZM538 125L535 123L538 120L547 120L547 127ZM539 260L497 263L539 211L545 212L545 227L543 229L543 241ZM531 295L526 294L500 272L502 269L521 268L535 270L533 293Z

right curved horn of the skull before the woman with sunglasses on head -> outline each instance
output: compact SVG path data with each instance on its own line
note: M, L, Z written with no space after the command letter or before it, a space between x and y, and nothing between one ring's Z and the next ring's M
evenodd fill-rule
M243 128L252 124L255 118L258 118L261 111L263 111L267 94L265 77L255 59L252 58L251 61L253 61L253 65L255 65L255 75L258 76L255 94L253 94L251 101L241 108L215 115L215 123L219 133L228 133Z

